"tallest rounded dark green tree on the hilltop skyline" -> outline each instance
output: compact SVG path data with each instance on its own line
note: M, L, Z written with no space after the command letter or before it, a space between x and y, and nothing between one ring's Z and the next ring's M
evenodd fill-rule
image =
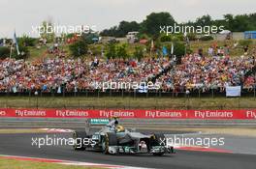
M169 13L151 13L141 24L141 32L158 37L160 34L160 26L174 25L176 20Z

